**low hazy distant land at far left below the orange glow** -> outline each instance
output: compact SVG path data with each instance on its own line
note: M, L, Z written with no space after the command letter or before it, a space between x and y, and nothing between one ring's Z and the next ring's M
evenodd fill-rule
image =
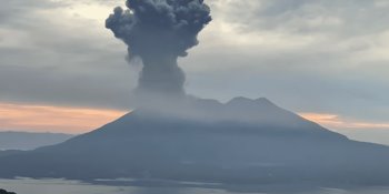
M74 135L63 133L0 132L0 150L34 150L62 143Z

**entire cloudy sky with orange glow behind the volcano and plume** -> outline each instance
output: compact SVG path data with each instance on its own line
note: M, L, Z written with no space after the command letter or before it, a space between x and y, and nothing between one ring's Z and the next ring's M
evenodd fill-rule
M213 21L179 60L188 93L222 102L265 96L351 137L389 144L389 1L206 2ZM1 130L82 133L131 110L140 65L128 64L126 44L104 28L123 4L1 2Z

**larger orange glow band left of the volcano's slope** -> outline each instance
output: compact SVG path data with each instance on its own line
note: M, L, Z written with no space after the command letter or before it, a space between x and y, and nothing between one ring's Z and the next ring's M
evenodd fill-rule
M84 133L126 114L124 111L0 103L0 130Z

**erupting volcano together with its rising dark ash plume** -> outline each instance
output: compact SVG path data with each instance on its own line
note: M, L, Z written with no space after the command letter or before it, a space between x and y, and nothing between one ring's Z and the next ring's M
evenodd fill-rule
M361 143L267 99L187 95L177 59L211 21L203 0L128 0L106 27L143 69L134 111L64 143L0 153L0 177L129 177L220 184L388 185L389 147Z

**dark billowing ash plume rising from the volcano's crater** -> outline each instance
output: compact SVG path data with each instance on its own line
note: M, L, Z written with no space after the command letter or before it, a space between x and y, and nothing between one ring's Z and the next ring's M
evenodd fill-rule
M198 44L198 33L211 21L203 0L127 0L106 27L128 45L129 58L140 57L143 69L137 92L184 94L178 57Z

